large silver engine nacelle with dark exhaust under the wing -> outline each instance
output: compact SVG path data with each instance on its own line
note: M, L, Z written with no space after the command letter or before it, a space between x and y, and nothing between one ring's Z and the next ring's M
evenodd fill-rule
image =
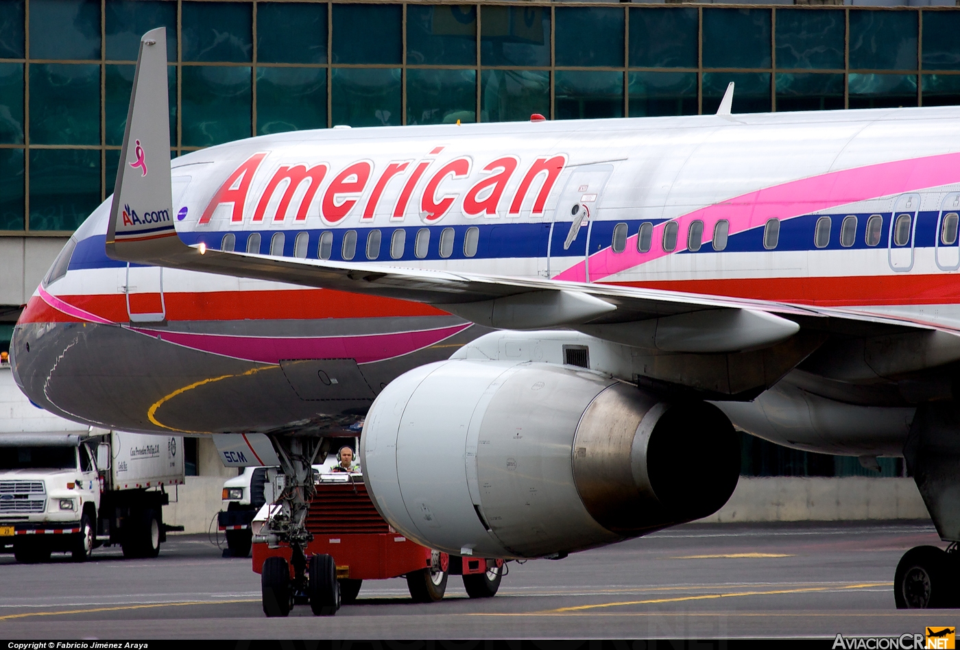
M732 424L569 366L453 359L397 377L360 445L380 514L461 555L531 558L619 542L719 510Z

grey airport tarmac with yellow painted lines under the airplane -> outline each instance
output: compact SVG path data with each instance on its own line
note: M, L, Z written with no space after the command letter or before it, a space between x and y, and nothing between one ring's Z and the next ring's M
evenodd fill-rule
M499 594L442 602L403 579L365 583L332 617L307 606L266 618L251 561L206 536L171 536L156 560L94 551L75 565L0 556L0 635L60 638L803 638L900 635L960 611L900 611L900 555L939 544L929 522L699 524L578 553L511 563Z

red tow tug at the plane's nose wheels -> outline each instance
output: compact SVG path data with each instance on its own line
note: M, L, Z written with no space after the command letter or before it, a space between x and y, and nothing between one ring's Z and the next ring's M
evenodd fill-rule
M377 513L359 472L319 474L314 482L305 592L294 585L291 547L261 534L279 506L268 503L252 521L253 571L261 575L264 614L286 616L301 603L317 615L336 614L341 603L356 600L364 580L400 576L419 603L443 598L449 575L463 576L471 598L489 598L499 589L503 560L448 555L406 539Z

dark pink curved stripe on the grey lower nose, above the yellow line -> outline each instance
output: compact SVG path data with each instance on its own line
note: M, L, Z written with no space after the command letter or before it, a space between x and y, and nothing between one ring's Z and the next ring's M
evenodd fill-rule
M158 329L134 331L159 336L163 341L184 348L203 350L237 359L279 363L280 359L356 359L357 363L383 361L427 348L467 329L469 323L387 334L316 337L224 336L189 334Z

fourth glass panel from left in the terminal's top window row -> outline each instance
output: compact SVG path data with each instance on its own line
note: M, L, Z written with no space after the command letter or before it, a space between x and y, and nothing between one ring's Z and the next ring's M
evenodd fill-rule
M241 2L182 3L183 60L251 60L251 7Z

